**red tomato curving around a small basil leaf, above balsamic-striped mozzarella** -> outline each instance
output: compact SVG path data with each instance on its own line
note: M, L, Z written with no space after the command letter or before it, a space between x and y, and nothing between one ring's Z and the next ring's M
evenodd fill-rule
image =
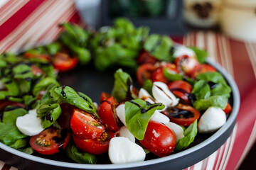
M166 77L164 77L164 67L166 67L166 69L168 69L171 72L178 73L177 69L176 69L176 66L174 64L166 63L166 64L162 65L161 67L157 68L153 72L152 77L151 77L151 80L153 82L154 81L161 81L165 84L167 84L169 82L169 80L166 79Z

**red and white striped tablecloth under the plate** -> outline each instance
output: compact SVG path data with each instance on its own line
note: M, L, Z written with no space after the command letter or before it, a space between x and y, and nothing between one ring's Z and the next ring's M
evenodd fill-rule
M58 23L71 21L82 26L73 0L1 0L0 53L55 40ZM241 96L238 120L225 144L190 169L238 169L256 140L256 43L232 40L214 32L192 32L174 38L184 45L210 53L235 79ZM1 153L0 153L1 154ZM0 169L16 169L0 161Z

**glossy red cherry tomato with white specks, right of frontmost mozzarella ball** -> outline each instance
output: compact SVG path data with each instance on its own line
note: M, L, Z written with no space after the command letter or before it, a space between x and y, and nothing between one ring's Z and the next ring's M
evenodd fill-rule
M159 157L165 157L174 152L176 137L174 132L166 125L149 121L144 139L140 140L146 149Z

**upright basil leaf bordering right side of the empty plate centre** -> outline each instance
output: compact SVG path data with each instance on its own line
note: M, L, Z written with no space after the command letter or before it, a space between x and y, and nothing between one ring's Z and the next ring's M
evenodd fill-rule
M122 69L118 69L117 72L114 73L112 96L114 96L117 102L121 102L127 98L127 92L129 91L131 84L132 78L127 74L127 72L123 72Z

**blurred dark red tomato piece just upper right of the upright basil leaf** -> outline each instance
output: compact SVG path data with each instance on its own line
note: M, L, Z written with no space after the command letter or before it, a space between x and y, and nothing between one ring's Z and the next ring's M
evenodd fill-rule
M139 84L142 86L144 84L144 81L147 79L151 79L151 74L154 72L156 67L154 67L153 64L142 64L137 69L137 80L139 81Z

